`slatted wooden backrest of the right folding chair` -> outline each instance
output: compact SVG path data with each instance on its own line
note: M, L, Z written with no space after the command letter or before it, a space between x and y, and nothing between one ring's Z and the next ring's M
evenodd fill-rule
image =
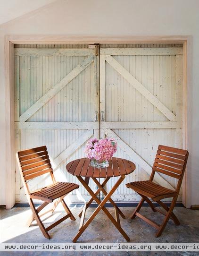
M166 174L170 177L178 179L176 192L179 192L186 168L188 155L189 153L187 150L159 145L152 167L150 180L153 180L156 171L162 174Z

